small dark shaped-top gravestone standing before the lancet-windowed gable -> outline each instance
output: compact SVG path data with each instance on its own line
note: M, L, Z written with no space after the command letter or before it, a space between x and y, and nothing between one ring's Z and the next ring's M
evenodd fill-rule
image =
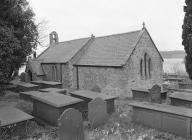
M161 103L161 87L154 85L149 89L149 101L153 103Z

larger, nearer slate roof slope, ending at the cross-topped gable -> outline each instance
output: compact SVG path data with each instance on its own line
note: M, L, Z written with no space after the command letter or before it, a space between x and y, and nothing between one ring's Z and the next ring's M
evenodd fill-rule
M141 32L96 37L77 65L122 66L135 48Z

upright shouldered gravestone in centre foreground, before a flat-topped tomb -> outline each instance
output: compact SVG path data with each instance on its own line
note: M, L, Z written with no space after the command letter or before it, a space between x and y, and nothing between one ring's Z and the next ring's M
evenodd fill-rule
M107 104L101 98L95 98L88 104L88 120L92 127L103 124L107 119Z

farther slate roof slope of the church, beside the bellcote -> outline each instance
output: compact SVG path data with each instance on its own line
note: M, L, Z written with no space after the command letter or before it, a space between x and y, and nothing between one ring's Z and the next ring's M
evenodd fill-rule
M90 37L54 43L37 59L42 59L43 63L67 63L89 39Z

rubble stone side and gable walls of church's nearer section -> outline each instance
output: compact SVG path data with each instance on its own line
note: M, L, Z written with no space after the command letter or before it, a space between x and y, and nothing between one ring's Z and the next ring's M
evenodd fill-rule
M144 59L145 53L151 58L150 78L142 78L140 75L140 59ZM162 84L163 63L149 35L145 32L123 68L78 67L78 73L80 89L91 90L97 85L102 92L130 97L131 88L151 88L154 84Z

